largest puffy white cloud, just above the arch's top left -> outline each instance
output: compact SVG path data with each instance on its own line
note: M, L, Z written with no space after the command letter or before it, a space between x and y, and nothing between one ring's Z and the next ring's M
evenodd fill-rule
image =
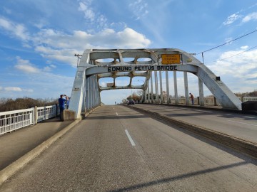
M106 28L95 34L86 33L86 31L66 34L44 29L34 38L34 44L35 50L45 58L76 66L74 53L83 53L86 48L146 48L151 41L132 28L125 28L118 32Z

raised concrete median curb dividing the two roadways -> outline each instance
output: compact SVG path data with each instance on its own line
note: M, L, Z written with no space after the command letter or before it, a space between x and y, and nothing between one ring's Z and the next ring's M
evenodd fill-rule
M200 127L195 124L190 124L188 122L183 122L181 120L174 119L174 118L168 117L166 115L158 114L156 112L150 112L150 111L143 110L143 109L137 108L137 107L129 107L129 108L136 110L138 112L143 112L145 114L149 114L153 118L162 119L166 122L170 122L171 124L176 124L177 126L181 127L182 129L186 129L188 131L194 132L198 135L201 135L203 137L211 139L220 144L229 146L233 149L241 151L244 154L248 154L249 156L252 156L253 158L257 159L257 143L249 142L244 139L240 139L238 137L233 137L233 136L225 134L223 132L216 132L214 130L211 130L211 129L208 129L205 127Z

